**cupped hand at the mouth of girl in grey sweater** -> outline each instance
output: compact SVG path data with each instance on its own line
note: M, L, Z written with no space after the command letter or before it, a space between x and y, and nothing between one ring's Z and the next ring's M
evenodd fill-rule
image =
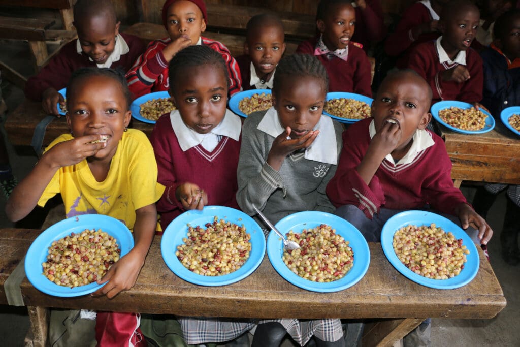
M290 138L291 127L278 135L271 145L271 150L267 156L267 163L276 171L280 170L285 157L298 149L309 147L319 134L319 130L311 130L302 137Z

